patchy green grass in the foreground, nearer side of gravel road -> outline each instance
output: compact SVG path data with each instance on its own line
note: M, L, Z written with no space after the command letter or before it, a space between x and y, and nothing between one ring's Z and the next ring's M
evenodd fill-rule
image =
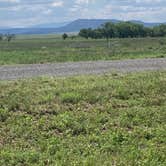
M166 165L166 72L0 82L0 165Z

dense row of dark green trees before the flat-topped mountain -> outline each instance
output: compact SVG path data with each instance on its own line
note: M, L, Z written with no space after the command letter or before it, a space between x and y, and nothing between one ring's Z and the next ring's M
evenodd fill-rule
M81 29L79 36L86 39L163 37L166 36L166 25L161 24L154 27L145 27L142 24L132 22L107 22L97 29Z

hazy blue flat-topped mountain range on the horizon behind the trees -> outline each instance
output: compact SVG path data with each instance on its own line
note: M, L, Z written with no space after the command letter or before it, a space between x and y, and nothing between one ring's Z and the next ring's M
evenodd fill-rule
M97 28L106 22L118 23L120 20L114 19L78 19L71 23L51 23L37 25L31 28L11 28L0 29L0 33L12 33L12 34L51 34L51 33L72 33L79 32L83 28ZM142 21L131 20L131 22L142 24L146 27L153 27L160 25L161 23L145 23ZM59 27L58 27L59 26Z

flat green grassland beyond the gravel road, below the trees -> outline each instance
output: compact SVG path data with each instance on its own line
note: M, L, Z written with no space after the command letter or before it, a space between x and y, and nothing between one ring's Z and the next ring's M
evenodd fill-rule
M112 39L111 48L104 39L63 41L58 36L0 42L0 65L158 57L166 57L166 38Z

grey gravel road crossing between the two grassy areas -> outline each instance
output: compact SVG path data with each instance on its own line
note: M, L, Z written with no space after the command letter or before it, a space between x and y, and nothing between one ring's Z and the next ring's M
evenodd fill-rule
M166 70L166 58L0 66L0 80Z

